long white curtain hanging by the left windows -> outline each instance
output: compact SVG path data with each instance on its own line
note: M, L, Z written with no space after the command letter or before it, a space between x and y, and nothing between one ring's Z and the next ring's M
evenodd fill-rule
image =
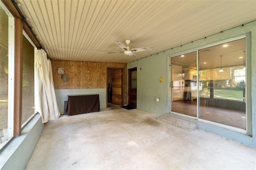
M35 113L40 113L42 123L58 119L60 111L54 91L52 64L43 49L37 50L35 71Z

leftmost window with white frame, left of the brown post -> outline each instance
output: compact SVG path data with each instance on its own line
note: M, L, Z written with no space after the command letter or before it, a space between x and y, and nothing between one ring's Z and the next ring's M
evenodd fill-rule
M0 146L13 136L14 17L0 6Z

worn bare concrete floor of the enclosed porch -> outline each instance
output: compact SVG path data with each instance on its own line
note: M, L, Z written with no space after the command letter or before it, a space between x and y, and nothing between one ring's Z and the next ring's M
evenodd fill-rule
M117 105L62 115L45 124L26 170L256 169L256 148L156 117Z

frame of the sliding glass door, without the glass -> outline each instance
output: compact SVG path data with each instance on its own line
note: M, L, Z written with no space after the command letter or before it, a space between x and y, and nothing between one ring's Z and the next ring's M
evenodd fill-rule
M200 119L200 100L198 100L197 102L197 117L196 117L196 120L197 121L200 121L200 122L203 122L203 123L207 123L207 124L210 124L210 125L215 125L215 126L218 126L218 127L222 127L222 128L227 128L227 129L230 129L230 130L234 130L234 131L237 131L237 132L241 132L241 133L244 133L244 134L248 134L249 136L252 136L252 101L251 101L251 87L252 87L252 84L251 84L251 33L246 33L246 34L242 34L242 35L239 35L239 36L235 36L235 37L232 37L232 38L228 38L228 39L225 39L225 40L220 40L218 42L215 42L215 43L210 43L208 45L202 45L200 47L197 47L197 48L193 48L193 49L190 49L190 50L186 50L186 51L182 51L182 52L179 52L179 53L175 53L175 54L172 54L172 55L169 55L169 73L170 73L170 85L169 85L169 113L172 113L172 114L175 114L175 115L179 115L179 116L182 116L182 117L187 117L187 118L190 118L190 119L195 119L195 117L192 117L192 116L189 116L189 115L184 115L182 113L176 113L176 112L172 112L172 63L171 63L171 58L172 57L176 57L178 55L182 55L182 54L186 54L186 53L190 53L190 52L194 52L196 51L197 53L197 61L196 61L196 64L197 64L197 77L199 77L199 50L200 49L204 49L204 48L207 48L207 47L212 47L212 46L215 46L215 45L220 45L222 43L228 43L228 42L232 42L232 41L235 41L235 40L240 40L242 38L245 38L246 39L246 44L245 44L245 48L246 48L246 53L245 53L245 56L246 56L246 88L245 88L245 94L246 94L246 130L244 129L240 129L240 128L236 128L236 127L231 127L231 126L228 126L228 125L224 125L224 124L220 124L220 123L216 123L216 122L212 122L212 121L207 121L207 120L204 120L204 119ZM200 99L200 94L199 94L199 79L197 79L197 99Z

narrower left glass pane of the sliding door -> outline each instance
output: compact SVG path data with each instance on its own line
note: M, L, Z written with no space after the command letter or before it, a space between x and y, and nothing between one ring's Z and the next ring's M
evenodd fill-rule
M171 111L197 117L196 51L172 57L171 67Z

